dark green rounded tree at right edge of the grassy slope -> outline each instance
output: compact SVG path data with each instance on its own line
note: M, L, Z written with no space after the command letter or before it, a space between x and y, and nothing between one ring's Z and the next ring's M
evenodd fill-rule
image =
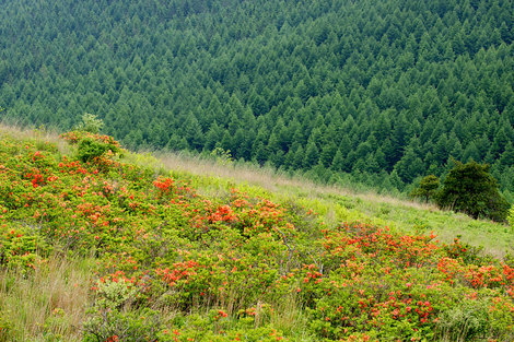
M498 182L489 173L490 166L475 161L454 164L437 194L437 204L475 219L505 221L510 205L500 194Z

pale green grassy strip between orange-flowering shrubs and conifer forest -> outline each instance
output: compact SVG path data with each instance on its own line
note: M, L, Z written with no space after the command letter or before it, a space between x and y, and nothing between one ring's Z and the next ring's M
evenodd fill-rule
M271 169L252 165L241 166L176 154L156 156L159 160L155 165L176 170L176 174L197 176L196 184L208 193L223 191L229 185L235 184L261 192L262 196L313 208L329 225L361 221L405 233L434 232L444 243L460 236L463 241L482 246L484 251L498 257L514 250L514 236L509 226L441 211L432 204L372 192L355 193L339 187L317 185L308 179L291 179Z

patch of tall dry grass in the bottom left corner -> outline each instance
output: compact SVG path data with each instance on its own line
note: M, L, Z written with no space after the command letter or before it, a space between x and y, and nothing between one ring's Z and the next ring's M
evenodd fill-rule
M79 341L90 274L85 263L57 257L28 273L1 270L0 316L9 322L3 341L46 341L50 337Z

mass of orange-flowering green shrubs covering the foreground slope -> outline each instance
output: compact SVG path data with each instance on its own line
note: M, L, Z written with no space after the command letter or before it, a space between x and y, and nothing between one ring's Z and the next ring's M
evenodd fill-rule
M120 149L78 134L63 137ZM108 153L0 140L0 267L94 256L85 341L294 340L276 327L287 303L313 341L512 340L514 268L434 238L326 227L292 203L200 196L191 179Z

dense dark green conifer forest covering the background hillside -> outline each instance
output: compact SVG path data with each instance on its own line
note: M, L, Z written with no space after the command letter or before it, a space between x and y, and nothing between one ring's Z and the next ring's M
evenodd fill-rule
M404 190L514 192L512 0L1 1L0 116Z

